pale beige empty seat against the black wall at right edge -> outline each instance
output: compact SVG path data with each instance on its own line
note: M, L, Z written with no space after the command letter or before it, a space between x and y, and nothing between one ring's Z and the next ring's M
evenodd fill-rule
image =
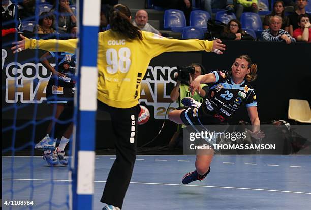
M287 117L301 123L311 123L309 102L307 100L290 99Z

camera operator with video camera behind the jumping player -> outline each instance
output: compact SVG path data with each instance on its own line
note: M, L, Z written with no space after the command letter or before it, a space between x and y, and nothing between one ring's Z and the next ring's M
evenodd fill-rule
M192 73L192 74L191 74ZM198 102L203 102L204 98L207 96L209 91L209 87L206 84L201 84L201 89L196 90L195 94L192 96L191 92L188 90L189 84L199 75L205 74L204 67L199 63L192 63L186 67L178 67L178 75L175 76L177 79L176 86L173 88L171 92L171 100L176 101L178 99L179 106L183 106L181 104L182 98L185 97L192 97ZM178 125L177 131L174 133L171 141L169 143L169 148L174 149L177 144L182 144L182 135L183 135L183 128L185 125Z

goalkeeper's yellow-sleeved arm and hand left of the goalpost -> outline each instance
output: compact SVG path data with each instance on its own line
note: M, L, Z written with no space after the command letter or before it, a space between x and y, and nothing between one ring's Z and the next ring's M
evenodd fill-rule
M34 40L28 39L22 34L20 34L22 38L21 41L14 42L11 49L13 53L21 52L25 49L41 49L46 51L53 51L53 52L70 52L74 53L75 49L77 48L78 39L69 39L69 40Z

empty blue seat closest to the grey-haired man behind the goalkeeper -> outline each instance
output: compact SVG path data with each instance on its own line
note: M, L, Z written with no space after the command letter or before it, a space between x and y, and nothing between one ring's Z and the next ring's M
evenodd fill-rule
M165 30L181 32L186 26L185 16L180 10L165 10L163 26Z

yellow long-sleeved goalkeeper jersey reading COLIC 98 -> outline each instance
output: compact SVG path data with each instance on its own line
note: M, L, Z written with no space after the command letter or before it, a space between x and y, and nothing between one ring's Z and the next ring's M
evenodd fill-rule
M143 39L127 39L107 30L98 35L98 100L111 107L131 108L138 104L140 85L150 60L164 52L210 52L213 41L168 39L141 31ZM75 52L78 39L26 39L25 49Z

